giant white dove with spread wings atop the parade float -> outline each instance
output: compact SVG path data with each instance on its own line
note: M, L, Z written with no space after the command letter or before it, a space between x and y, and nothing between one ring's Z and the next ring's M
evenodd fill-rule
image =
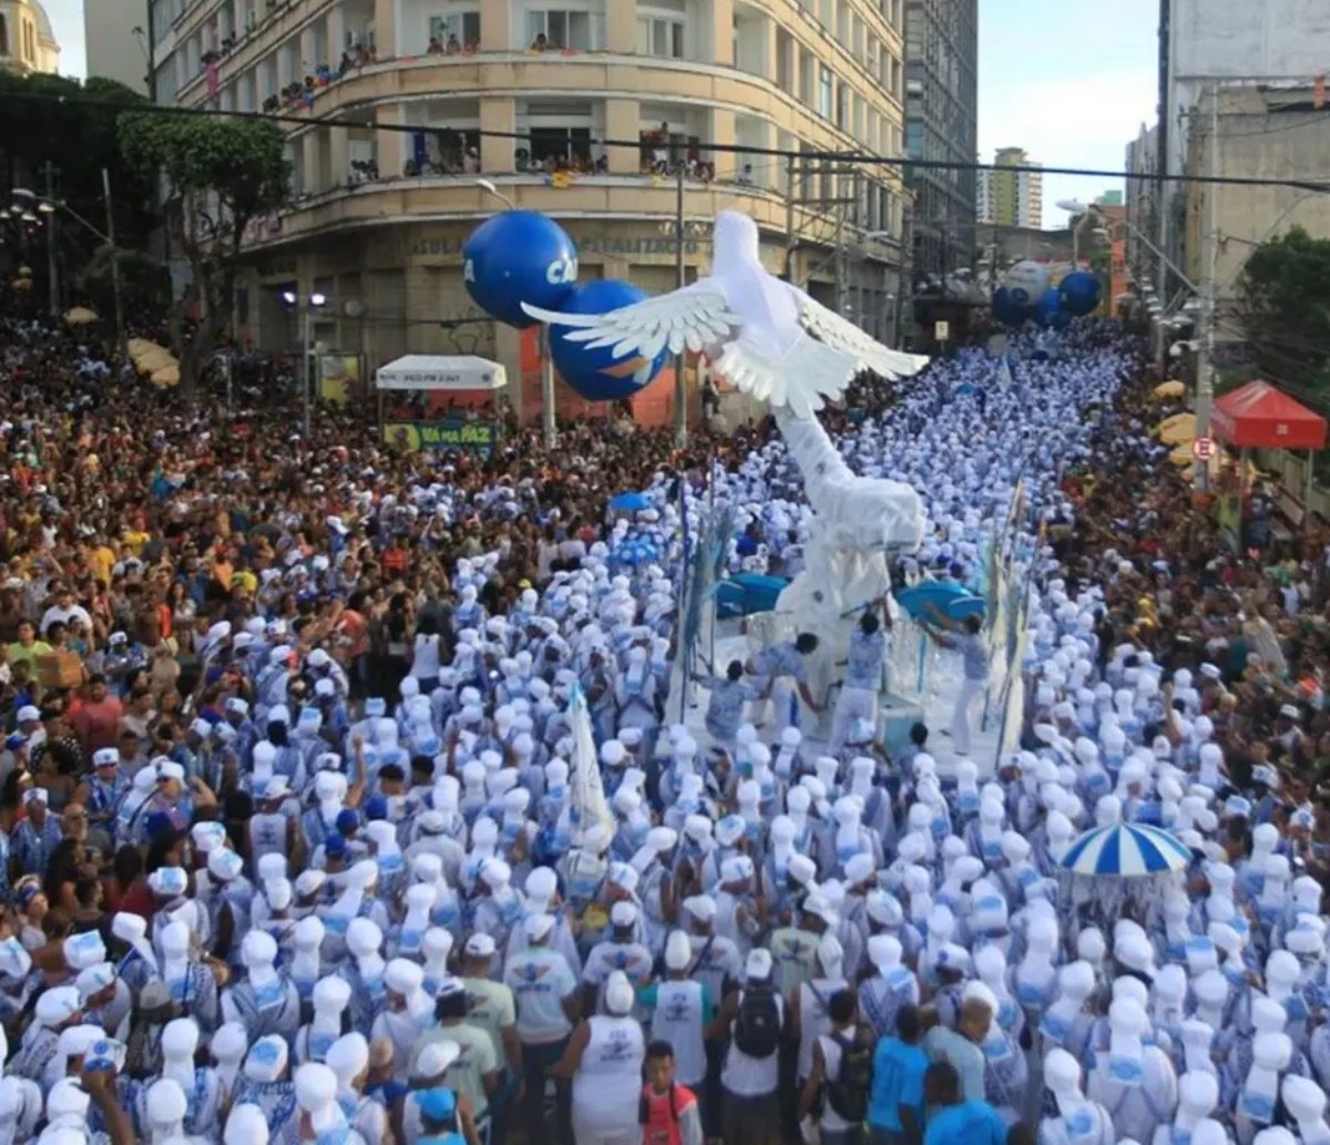
M576 327L564 334L614 358L648 362L665 350L706 354L730 384L773 407L811 418L839 398L855 374L915 374L928 359L898 354L767 273L757 223L737 211L716 217L712 273L692 286L609 314L560 314L523 303L532 318Z

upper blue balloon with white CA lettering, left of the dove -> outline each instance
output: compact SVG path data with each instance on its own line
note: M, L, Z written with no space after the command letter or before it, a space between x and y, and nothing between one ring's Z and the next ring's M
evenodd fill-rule
M480 223L462 247L462 274L476 306L524 330L529 302L561 310L577 283L577 249L549 215L508 210Z

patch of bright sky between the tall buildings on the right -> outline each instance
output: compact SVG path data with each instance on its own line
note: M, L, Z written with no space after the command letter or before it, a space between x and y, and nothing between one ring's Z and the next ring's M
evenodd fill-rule
M979 157L1024 148L1044 166L1120 172L1154 121L1158 0L979 0ZM1121 180L1044 177L1044 227L1059 199L1091 202Z

